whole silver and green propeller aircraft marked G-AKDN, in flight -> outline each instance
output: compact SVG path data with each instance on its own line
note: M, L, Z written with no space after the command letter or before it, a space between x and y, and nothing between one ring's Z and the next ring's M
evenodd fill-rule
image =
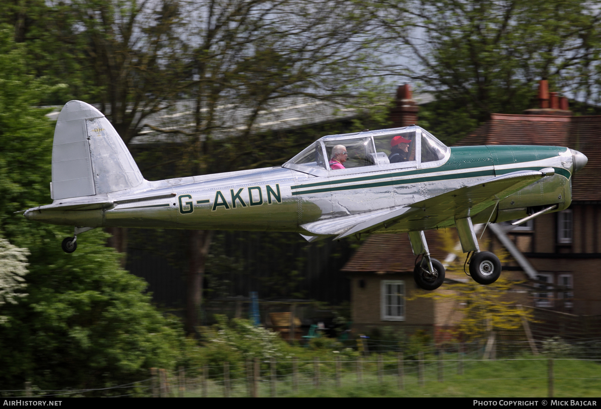
M392 145L403 148L401 161ZM405 232L422 255L415 281L434 290L445 270L424 230L456 227L469 274L491 284L501 263L480 251L474 224L566 209L572 174L586 163L558 146L449 148L411 126L325 136L281 166L150 182L108 119L70 101L54 133L52 205L25 217L75 227L66 252L96 227L291 231L309 241Z

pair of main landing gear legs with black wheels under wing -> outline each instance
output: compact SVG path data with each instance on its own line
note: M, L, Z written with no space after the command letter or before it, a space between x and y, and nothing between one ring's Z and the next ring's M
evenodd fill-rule
M468 261L469 275L478 284L492 284L501 276L501 261L490 251L480 251L470 217L455 219L455 224L463 252L473 252ZM410 231L409 240L413 254L422 256L413 269L415 283L424 290L436 290L445 279L444 266L436 258L430 257L423 231Z

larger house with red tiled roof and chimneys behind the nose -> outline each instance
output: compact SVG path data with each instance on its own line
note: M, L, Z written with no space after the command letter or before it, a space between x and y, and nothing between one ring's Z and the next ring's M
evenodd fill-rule
M572 205L511 228L491 225L489 239L513 260L535 291L531 305L575 315L601 315L601 116L573 116L567 99L540 82L540 108L494 114L458 145L555 145L583 152L588 164L572 176Z

